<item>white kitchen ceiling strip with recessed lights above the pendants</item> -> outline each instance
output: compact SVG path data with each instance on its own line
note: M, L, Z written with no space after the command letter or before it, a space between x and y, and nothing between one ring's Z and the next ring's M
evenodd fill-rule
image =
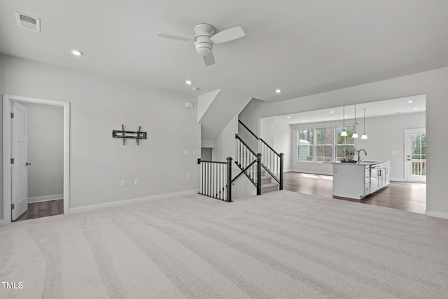
M356 119L363 118L363 109L365 109L366 118L424 112L426 111L426 95L415 95L412 97L400 97L398 99L386 99L384 101L357 104ZM292 125L303 123L321 123L323 121L332 120L340 120L342 122L343 115L346 116L346 120L352 120L355 118L355 105L305 111L300 113L290 113L284 116L273 116L272 118L279 123L288 123Z

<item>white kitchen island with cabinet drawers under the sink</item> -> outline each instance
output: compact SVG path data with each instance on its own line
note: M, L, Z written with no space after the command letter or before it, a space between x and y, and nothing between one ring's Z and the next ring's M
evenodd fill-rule
M333 164L333 196L361 200L389 183L389 161Z

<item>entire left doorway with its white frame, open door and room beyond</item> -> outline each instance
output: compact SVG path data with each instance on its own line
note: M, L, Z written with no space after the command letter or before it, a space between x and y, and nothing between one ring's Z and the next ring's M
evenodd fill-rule
M21 120L19 120L19 125L17 125L17 122L14 125L13 119L11 118L13 115L11 113L13 110L17 110L17 107L20 107L20 118L18 116L14 121ZM24 116L28 110L33 114L31 118L28 116L25 118ZM57 116L58 113L59 116ZM8 224L15 220L15 218L18 218L17 214L21 213L21 211L15 213L14 209L25 204L28 206L28 201L33 204L49 206L52 201L60 200L59 203L56 203L55 207L59 204L60 209L62 205L64 214L68 214L69 114L68 102L3 95L3 223ZM59 120L52 123L51 120L48 120L52 116L59 118ZM44 120L44 118L47 119ZM31 121L30 125L32 125L33 123L36 124L39 119L44 124L43 126L36 125L36 128L31 128L31 139L27 136L26 139L18 141L13 130L17 130L17 127L19 127L19 131L25 130L24 127L29 127L27 125L28 120ZM62 125L62 127L59 127L59 132L57 130L50 130L52 124L54 125L58 121ZM28 134L25 132L22 135ZM59 135L59 140L57 141L58 136L53 136L56 137L53 138L50 135ZM30 143L32 146L31 155L28 155L28 146L23 145L24 142ZM36 144L40 144L40 146L36 147ZM52 147L54 147L54 151L52 149L49 150ZM39 153L47 151L52 153L50 155L46 153L45 155L40 155L40 158L37 158ZM36 161L34 165L31 160ZM54 161L49 162L50 160ZM35 166L32 171L31 166ZM28 179L25 176L29 176L29 179L31 179L29 181L32 185L30 186L31 188L28 188ZM20 190L18 186L24 191L17 191ZM28 190L31 193L27 194ZM19 196L15 194L17 192L20 193ZM44 204L39 204L39 202L44 202ZM52 207L52 213L55 212L55 207Z

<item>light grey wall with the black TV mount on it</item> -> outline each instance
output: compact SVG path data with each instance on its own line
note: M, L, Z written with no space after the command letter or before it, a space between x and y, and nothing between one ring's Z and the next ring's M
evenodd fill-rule
M71 103L70 208L199 188L200 157L184 155L201 147L195 97L5 55L0 92ZM123 146L112 138L122 124L148 139Z

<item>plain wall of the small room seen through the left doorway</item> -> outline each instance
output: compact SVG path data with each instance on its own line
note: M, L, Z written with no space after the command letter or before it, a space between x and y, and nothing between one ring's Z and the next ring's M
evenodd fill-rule
M28 110L28 197L64 193L64 108L20 103ZM62 197L60 197L62 198Z

